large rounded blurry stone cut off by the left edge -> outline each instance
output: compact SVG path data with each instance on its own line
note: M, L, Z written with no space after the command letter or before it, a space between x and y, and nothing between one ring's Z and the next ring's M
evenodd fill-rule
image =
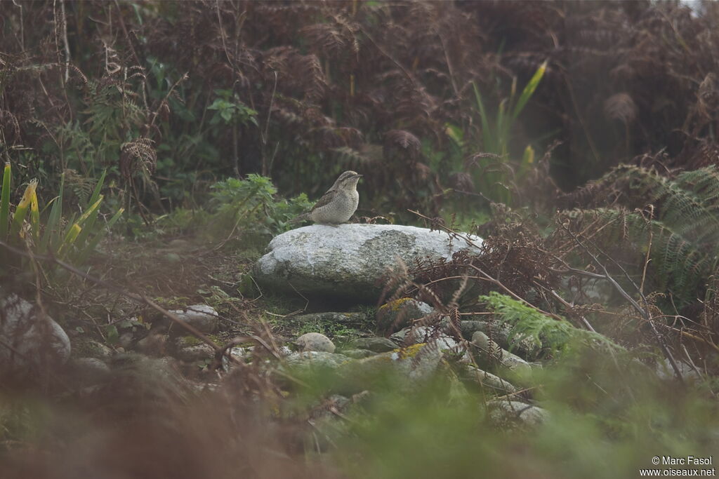
M37 305L0 291L0 369L58 366L70 358L70 338Z

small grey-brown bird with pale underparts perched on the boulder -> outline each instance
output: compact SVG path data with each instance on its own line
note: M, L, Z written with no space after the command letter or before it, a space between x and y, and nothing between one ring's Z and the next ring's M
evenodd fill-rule
M302 220L311 220L321 225L347 223L359 204L357 182L362 176L353 171L339 175L334 185L315 203L314 207L308 213L295 218L293 223Z

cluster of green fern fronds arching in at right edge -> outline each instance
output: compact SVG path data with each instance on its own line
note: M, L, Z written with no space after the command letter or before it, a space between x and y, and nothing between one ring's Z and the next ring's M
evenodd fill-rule
M603 229L595 241L634 251L636 264L643 263L651 232L656 287L667 289L680 305L694 301L719 256L719 170L710 166L672 179L650 169L620 167L598 183L628 186L623 203L632 208L654 205L654 219L617 208L564 214L577 225L599 220Z

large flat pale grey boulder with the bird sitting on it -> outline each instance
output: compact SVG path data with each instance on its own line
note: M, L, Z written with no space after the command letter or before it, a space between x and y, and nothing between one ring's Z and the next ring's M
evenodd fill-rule
M443 231L403 225L311 225L282 233L255 265L258 282L275 289L373 302L377 284L398 260L452 259L457 251L479 253L476 246Z

